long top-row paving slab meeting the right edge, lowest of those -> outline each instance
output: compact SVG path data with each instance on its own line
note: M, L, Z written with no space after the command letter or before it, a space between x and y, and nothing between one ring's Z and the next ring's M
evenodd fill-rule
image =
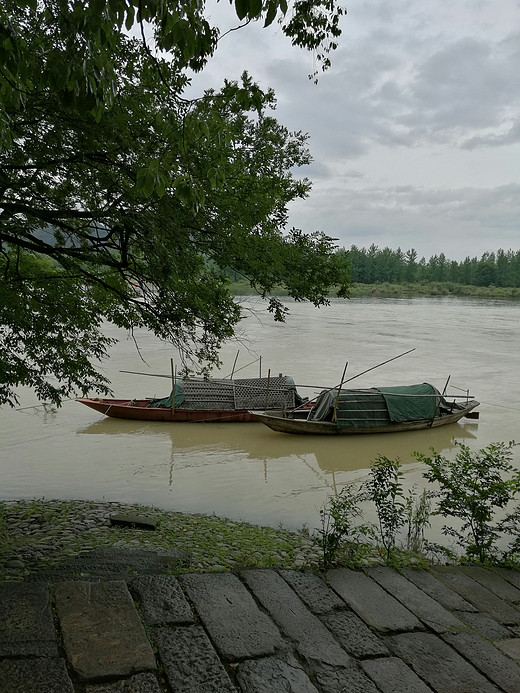
M506 626L518 625L520 623L520 611L456 567L436 566L433 571L440 580L451 589L457 591L464 599L471 602L479 611L490 614Z

